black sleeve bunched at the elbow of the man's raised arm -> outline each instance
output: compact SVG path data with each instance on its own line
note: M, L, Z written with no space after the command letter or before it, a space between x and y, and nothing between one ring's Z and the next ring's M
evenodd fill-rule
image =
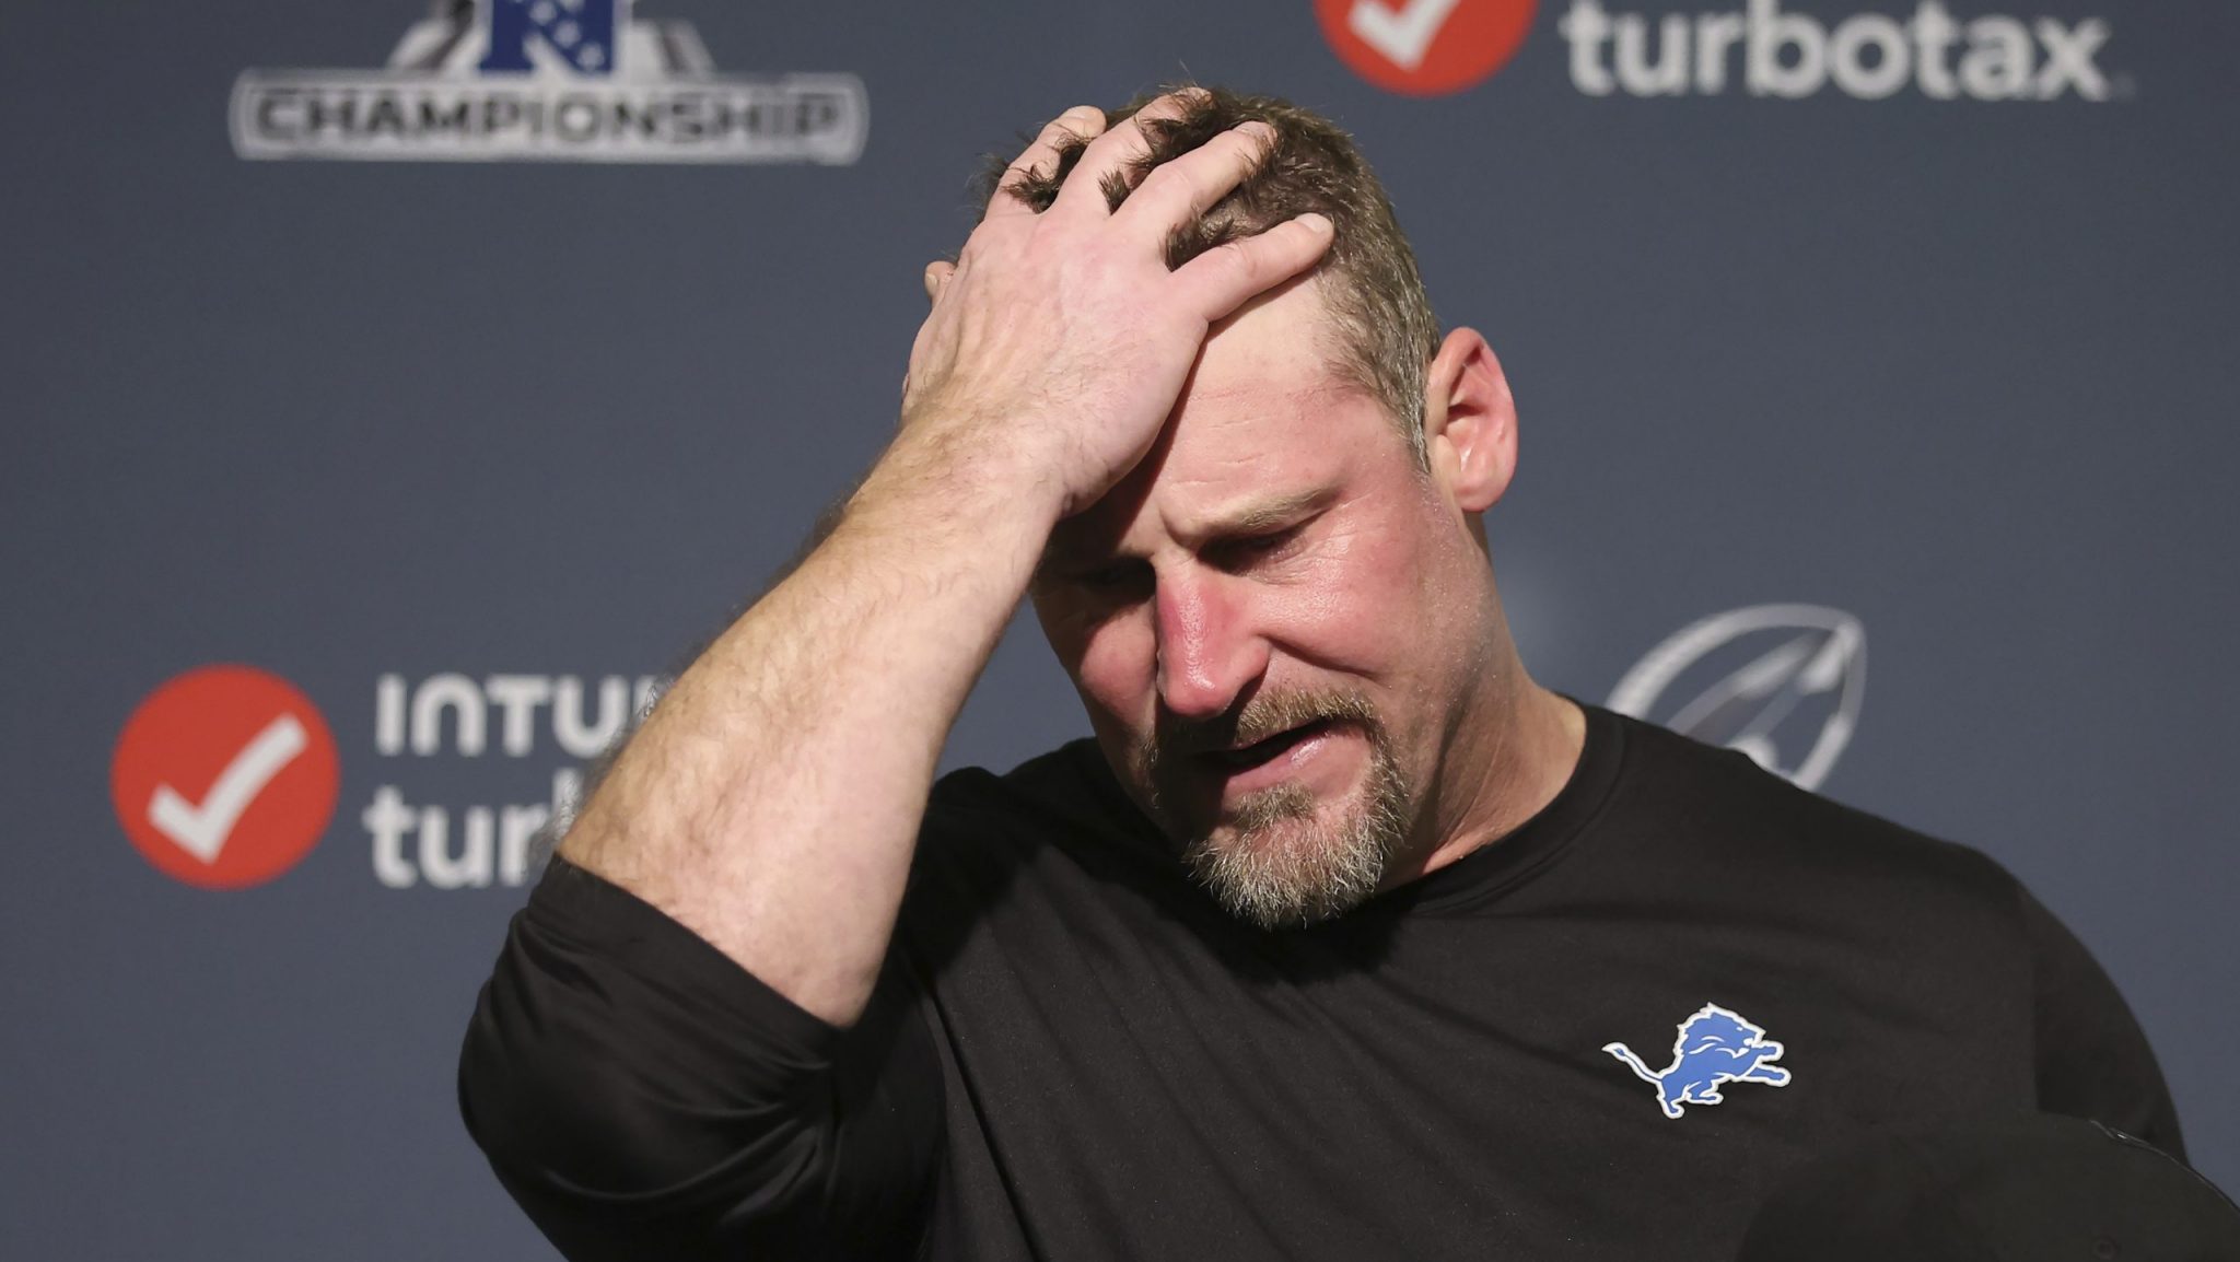
M907 1258L943 1085L889 959L849 1029L556 859L459 1056L459 1110L573 1262Z

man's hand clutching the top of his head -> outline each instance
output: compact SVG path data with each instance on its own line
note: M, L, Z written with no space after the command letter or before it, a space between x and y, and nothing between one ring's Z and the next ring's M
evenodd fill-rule
M1151 448L1214 321L1322 258L1331 222L1301 215L1167 269L1167 233L1236 188L1272 139L1266 123L1223 132L1109 208L1104 182L1149 152L1140 119L1178 110L1165 96L1104 130L1102 110L1077 105L1012 161L1006 186L1093 137L1048 211L999 188L956 262L927 267L934 309L903 388L909 437L943 460L995 462L1055 495L1057 516L1077 513Z

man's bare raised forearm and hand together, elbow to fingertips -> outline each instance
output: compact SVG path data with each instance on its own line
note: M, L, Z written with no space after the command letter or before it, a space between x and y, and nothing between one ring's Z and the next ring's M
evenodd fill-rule
M1055 161L1068 130L1102 114L1066 114L1012 170ZM862 1013L941 744L1051 527L1151 448L1207 327L1331 244L1301 217L1167 269L1167 233L1266 143L1225 132L1113 213L1102 179L1149 152L1127 121L1046 213L999 193L956 269L930 276L903 435L833 533L676 677L560 843L569 863L820 1020Z

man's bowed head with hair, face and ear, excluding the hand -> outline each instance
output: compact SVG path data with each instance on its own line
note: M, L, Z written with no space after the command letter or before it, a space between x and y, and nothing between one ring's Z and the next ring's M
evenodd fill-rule
M1172 253L1301 211L1335 242L1214 325L1151 453L1051 536L1033 598L1107 760L1196 876L1243 919L1306 924L1420 870L1483 794L1456 769L1485 762L1514 675L1478 529L1514 410L1478 334L1434 338L1337 128L1230 94L1158 110L1180 119L1149 126L1147 166L1277 126ZM1019 195L1046 204L1062 170Z

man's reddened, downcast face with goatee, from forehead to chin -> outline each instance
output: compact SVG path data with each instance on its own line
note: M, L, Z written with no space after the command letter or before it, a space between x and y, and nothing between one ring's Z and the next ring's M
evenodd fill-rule
M1411 845L1490 578L1315 282L1207 338L1160 446L1060 525L1035 612L1120 782L1236 915L1337 915Z

